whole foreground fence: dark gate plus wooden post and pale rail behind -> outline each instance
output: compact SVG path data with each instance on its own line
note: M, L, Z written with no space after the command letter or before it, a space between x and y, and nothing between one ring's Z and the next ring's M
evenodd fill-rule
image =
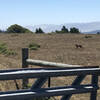
M23 54L28 49L23 49ZM28 53L28 52L27 52ZM99 66L78 66L56 64L28 59L28 54L23 55L22 69L0 70L0 80L23 79L23 85L27 86L29 78L37 78L29 89L0 92L0 100L32 100L40 97L62 96L61 100L69 100L73 94L91 93L90 100L97 99ZM29 64L40 66L54 66L51 68L25 68ZM57 65L57 67L56 67ZM60 67L61 66L61 67ZM91 75L91 83L81 85L87 75ZM48 77L77 76L70 86L42 88ZM49 81L50 82L50 81Z

